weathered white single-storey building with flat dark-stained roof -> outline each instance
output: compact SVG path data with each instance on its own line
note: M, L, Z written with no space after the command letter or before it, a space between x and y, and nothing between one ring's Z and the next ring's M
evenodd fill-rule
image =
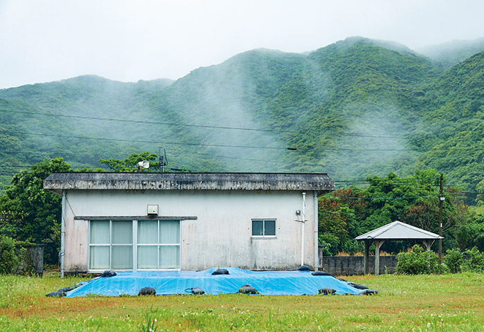
M317 266L327 174L56 173L61 272Z

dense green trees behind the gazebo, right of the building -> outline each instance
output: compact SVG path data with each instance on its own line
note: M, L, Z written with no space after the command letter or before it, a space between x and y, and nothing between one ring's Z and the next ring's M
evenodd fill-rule
M349 253L361 249L353 240L393 221L402 221L437 233L439 221L440 174L434 169L417 169L413 176L399 178L393 173L384 178L366 178L365 190L336 190L319 200L319 241L326 253ZM481 241L480 219L469 212L458 190L445 188L443 203L444 248L472 248ZM398 252L412 243L387 241L382 250Z

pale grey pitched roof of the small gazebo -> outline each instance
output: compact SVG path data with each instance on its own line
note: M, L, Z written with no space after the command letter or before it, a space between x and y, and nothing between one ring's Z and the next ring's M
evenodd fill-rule
M408 240L408 239L419 239L419 240L437 240L443 239L440 235L427 232L427 230L422 230L421 228L414 227L407 223L402 223L401 221L393 221L375 230L364 233L359 237L355 237L355 240Z

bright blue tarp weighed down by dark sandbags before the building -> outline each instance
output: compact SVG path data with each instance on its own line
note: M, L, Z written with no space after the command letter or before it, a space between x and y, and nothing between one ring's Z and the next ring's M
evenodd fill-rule
M66 294L66 297L86 295L138 295L141 288L151 287L156 295L187 294L198 287L205 294L236 293L246 285L261 295L314 295L321 288L331 288L335 294L360 294L362 291L331 275L312 275L310 271L263 271L225 268L229 275L212 275L216 268L203 271L125 271L114 277L97 277Z

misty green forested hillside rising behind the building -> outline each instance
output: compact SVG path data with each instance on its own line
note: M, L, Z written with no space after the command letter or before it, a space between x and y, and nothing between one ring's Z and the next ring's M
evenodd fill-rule
M484 53L447 69L353 37L308 54L248 51L175 82L82 76L3 89L1 182L50 158L95 168L165 147L169 167L327 172L339 186L433 168L472 203L484 174L483 86Z

